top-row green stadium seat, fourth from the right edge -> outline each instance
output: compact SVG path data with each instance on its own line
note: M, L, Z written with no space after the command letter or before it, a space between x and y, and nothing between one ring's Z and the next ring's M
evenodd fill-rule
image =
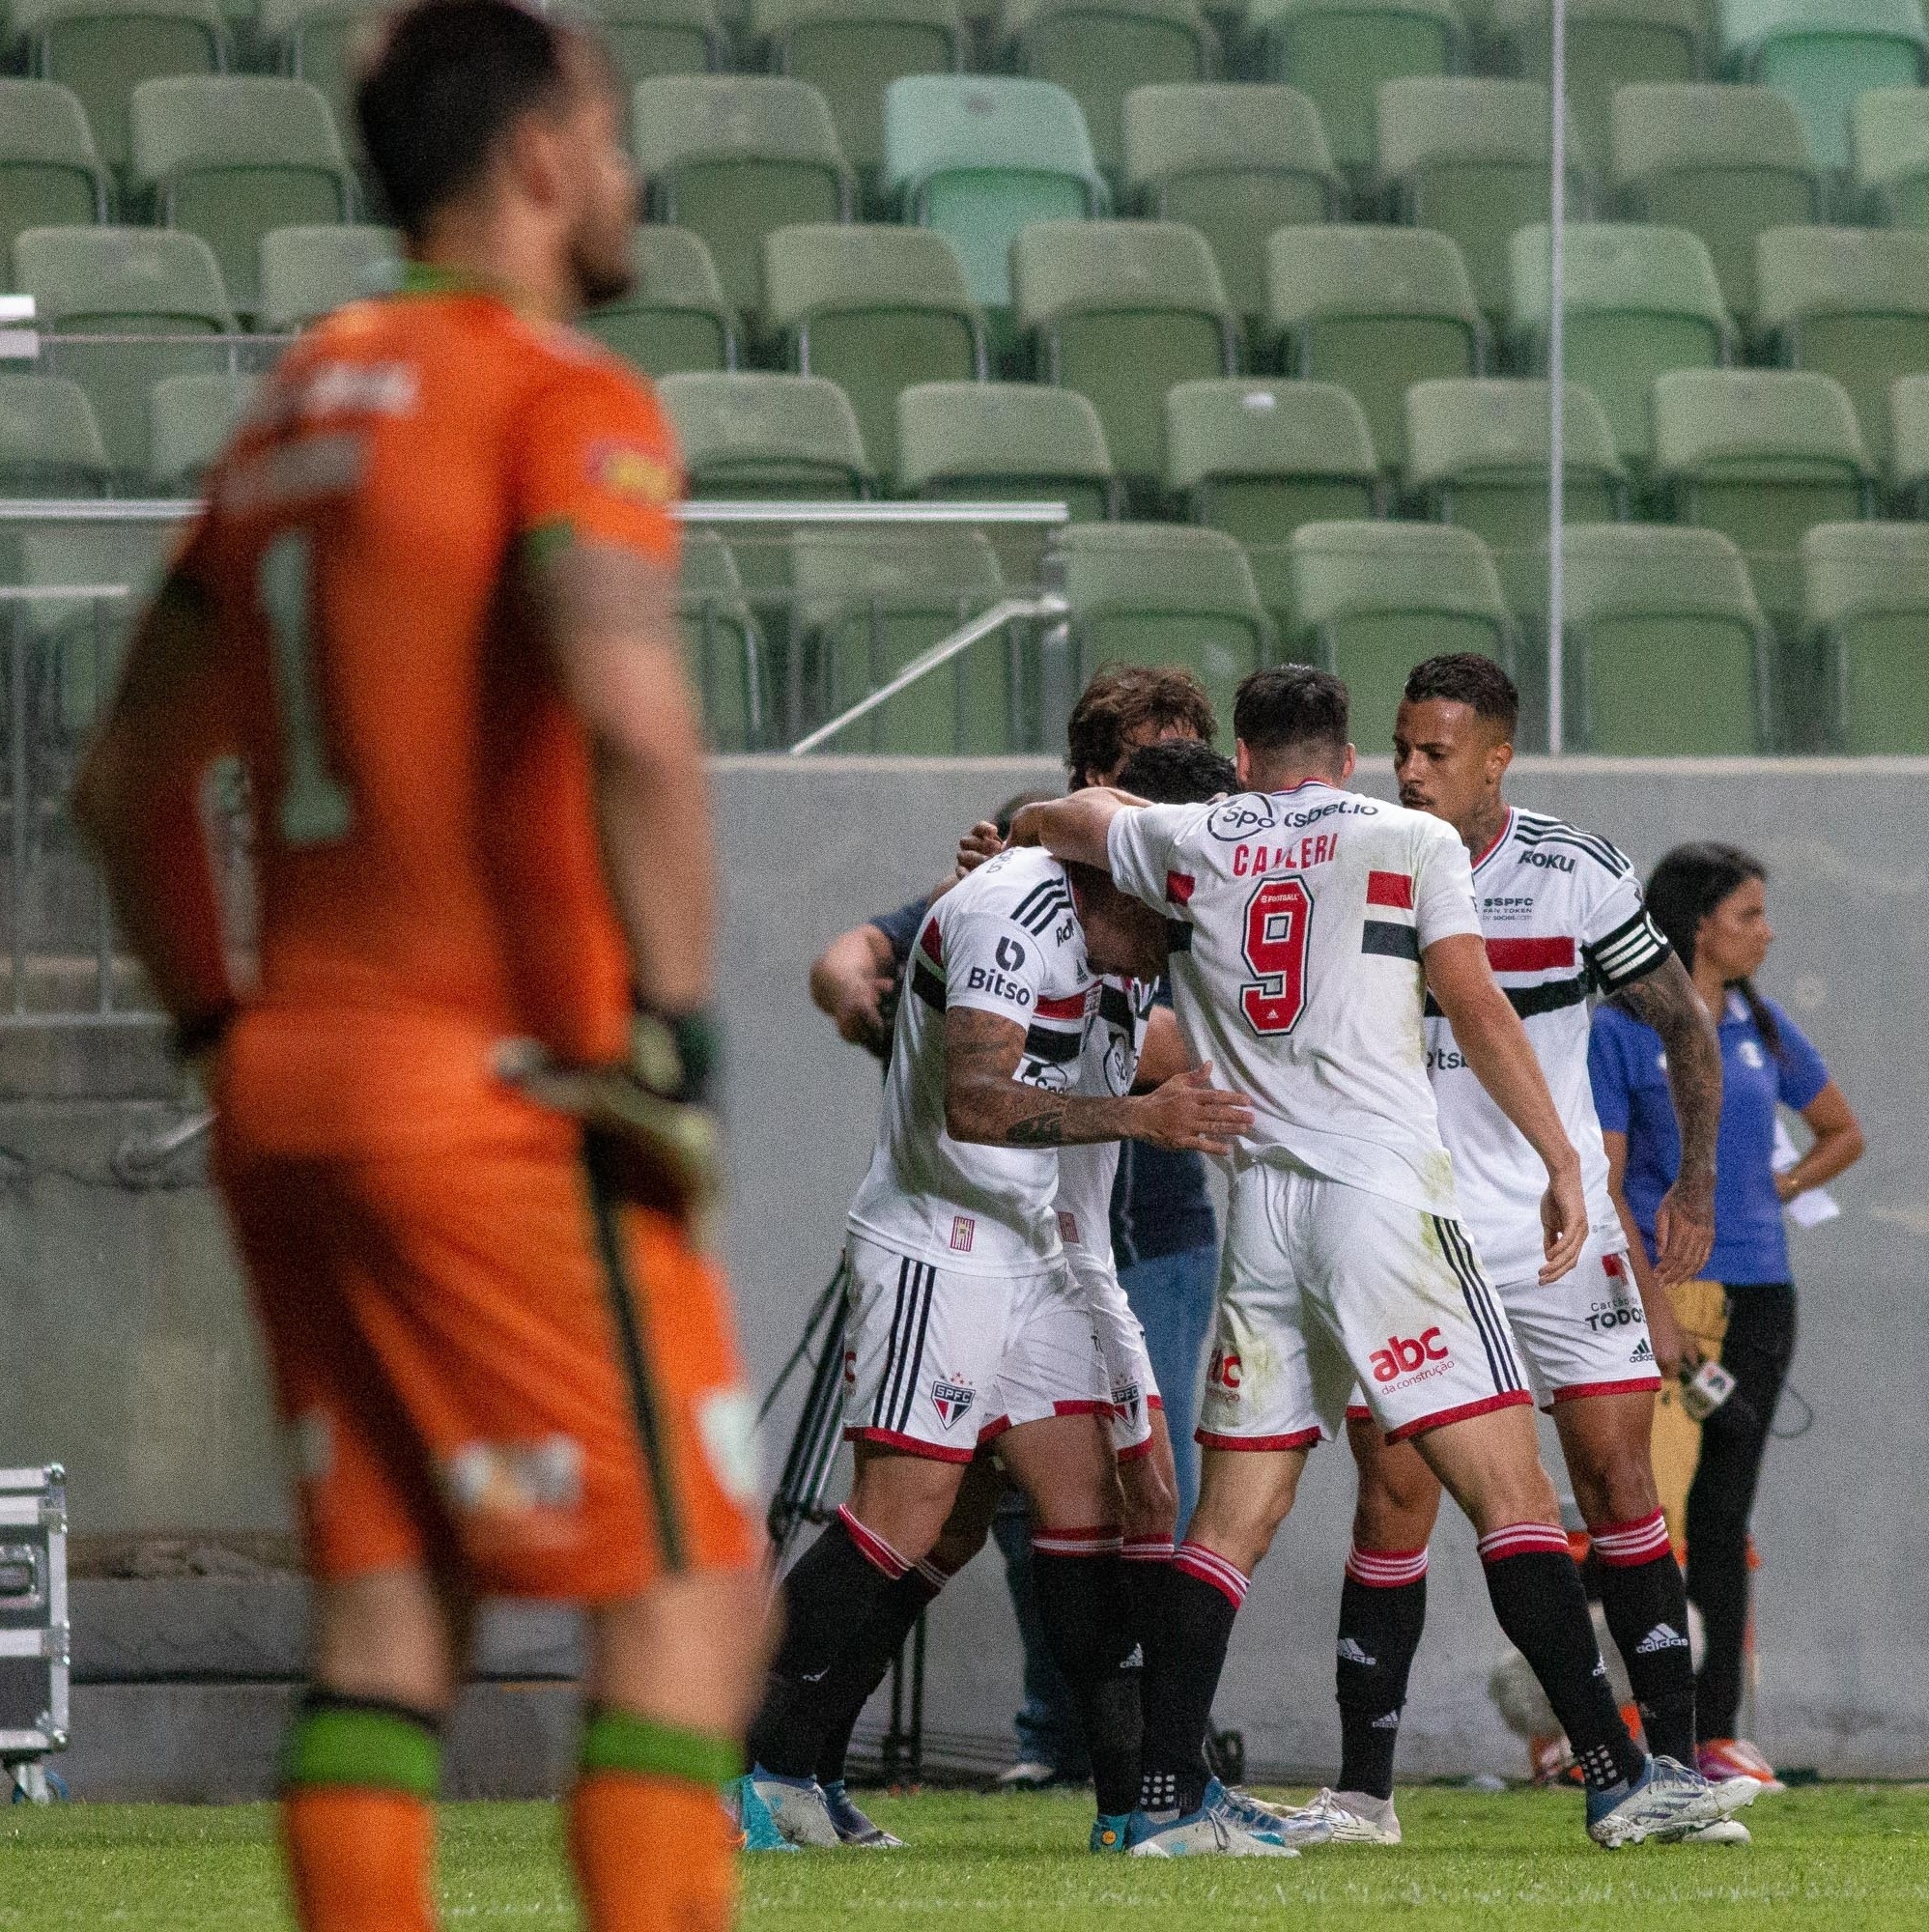
M1125 97L1135 87L1210 81L1220 43L1193 0L1005 0L1015 68L1067 89L1100 168L1125 170Z

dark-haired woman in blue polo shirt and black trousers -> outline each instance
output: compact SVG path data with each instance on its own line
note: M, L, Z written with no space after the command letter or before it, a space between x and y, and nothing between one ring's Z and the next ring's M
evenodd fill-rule
M1782 1202L1842 1173L1861 1153L1861 1128L1796 1022L1755 991L1753 976L1774 939L1763 881L1763 867L1734 846L1676 846L1655 867L1647 904L1718 1016L1722 1041L1714 1250L1703 1281L1716 1283L1726 1304L1720 1360L1736 1378L1736 1393L1703 1428L1687 1492L1687 1596L1707 1627L1695 1681L1699 1760L1711 1777L1740 1774L1774 1783L1769 1760L1734 1731L1747 1634L1747 1524L1774 1405L1796 1352ZM1643 1265L1655 1254L1655 1209L1682 1157L1660 1037L1620 1007L1602 1005L1589 1070L1616 1206L1641 1235L1629 1246L1643 1277L1655 1354L1662 1374L1693 1372L1701 1343L1682 1329ZM1799 1113L1815 1136L1782 1173L1774 1171L1778 1107ZM1685 1300L1693 1289L1684 1287Z

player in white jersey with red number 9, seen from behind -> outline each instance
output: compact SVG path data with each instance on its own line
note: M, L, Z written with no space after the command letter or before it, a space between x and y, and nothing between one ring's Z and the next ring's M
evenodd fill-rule
M1338 678L1254 672L1235 732L1249 790L1218 806L1080 792L1013 825L1164 912L1187 1047L1256 1115L1231 1161L1198 1509L1146 1660L1133 1851L1249 1849L1208 1799L1206 1714L1252 1569L1355 1383L1473 1519L1500 1625L1573 1741L1589 1835L1614 1847L1713 1824L1716 1787L1649 1758L1614 1708L1519 1354L1457 1217L1428 991L1542 1165L1540 1279L1571 1271L1589 1236L1581 1159L1486 964L1467 848L1440 819L1343 790Z

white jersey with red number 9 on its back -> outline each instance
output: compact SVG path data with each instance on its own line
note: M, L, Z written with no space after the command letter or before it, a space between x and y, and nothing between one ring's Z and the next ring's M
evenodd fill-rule
M1235 1161L1283 1155L1455 1215L1426 1080L1421 954L1481 931L1459 835L1307 781L1121 811L1108 846L1119 889L1166 912L1193 1061L1252 1099Z

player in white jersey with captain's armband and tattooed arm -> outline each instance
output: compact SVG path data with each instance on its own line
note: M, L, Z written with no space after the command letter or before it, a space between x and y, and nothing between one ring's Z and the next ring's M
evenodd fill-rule
M1467 1233L1508 1314L1519 1364L1560 1432L1598 1555L1600 1605L1627 1665L1647 1745L1656 1756L1693 1764L1687 1598L1649 1451L1660 1374L1608 1196L1587 1078L1587 1003L1620 1003L1668 1049L1682 1173L1660 1211L1662 1281L1691 1279L1714 1236L1720 1047L1693 981L1647 916L1627 860L1593 833L1506 802L1517 717L1513 680L1492 659L1428 659L1407 678L1394 773L1399 802L1452 825L1473 860L1486 960L1527 1028L1581 1155L1589 1233L1571 1273L1540 1279L1540 1161L1475 1078L1434 1001L1426 1007L1426 1072ZM1664 1300L1656 1320L1672 1320ZM1394 1370L1397 1362L1380 1362L1374 1374ZM1359 1507L1339 1598L1339 1781L1287 1816L1287 1835L1295 1843L1397 1845L1394 1747L1426 1617L1426 1542L1440 1513L1440 1482L1411 1441L1386 1439L1359 1397L1347 1408L1347 1441L1359 1464ZM1747 1837L1734 1818L1707 1832Z

